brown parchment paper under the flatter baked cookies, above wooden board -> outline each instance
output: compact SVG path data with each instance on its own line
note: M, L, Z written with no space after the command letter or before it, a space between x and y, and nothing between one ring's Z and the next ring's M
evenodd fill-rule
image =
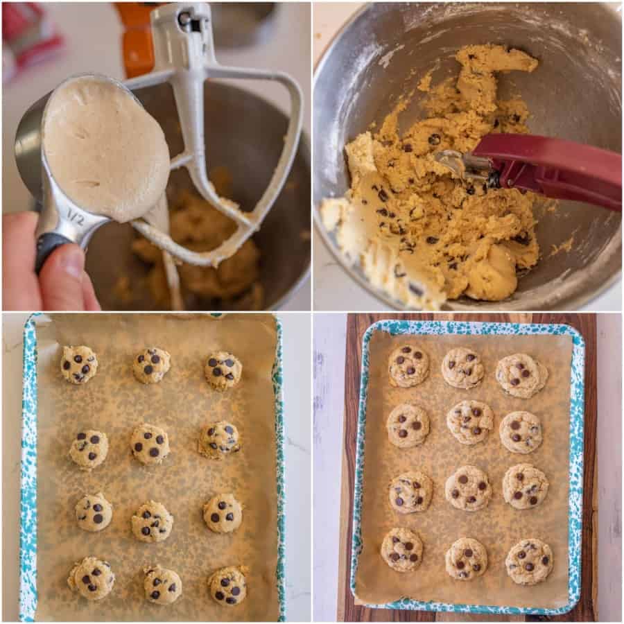
M401 343L417 344L430 358L429 376L415 388L392 388L388 356ZM473 390L452 388L442 379L442 358L452 347L471 347L485 365L483 381ZM503 356L524 352L548 368L546 387L531 399L507 395L494 378ZM365 467L361 530L363 551L356 573L356 596L361 603L381 604L407 596L468 605L562 607L568 584L568 455L572 339L570 336L390 336L376 331L370 340L370 377L366 409ZM460 444L449 431L447 412L463 399L476 399L494 410L494 428L485 442ZM426 408L431 430L424 444L397 449L388 441L385 422L392 408L413 400ZM544 441L539 449L511 453L499 437L505 415L516 410L535 413ZM539 508L515 510L505 503L502 481L512 465L528 462L544 471L550 488ZM483 469L492 484L487 508L465 512L444 498L444 483L462 465ZM434 483L426 512L401 515L390 508L392 477L422 469ZM381 558L385 533L393 526L417 531L424 544L422 565L414 573L395 572ZM471 582L453 580L444 569L444 554L460 537L474 537L487 548L488 569ZM511 546L524 537L537 537L553 548L554 568L546 582L532 587L515 584L505 570Z

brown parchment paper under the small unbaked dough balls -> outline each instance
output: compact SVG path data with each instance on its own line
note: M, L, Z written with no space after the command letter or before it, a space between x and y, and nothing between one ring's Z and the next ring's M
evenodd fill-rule
M279 615L275 407L271 369L277 333L270 315L67 314L37 327L39 410L37 441L37 593L41 621L276 621ZM60 373L62 345L88 345L98 372L86 385ZM132 359L148 346L171 354L160 383L144 385ZM205 381L209 352L239 356L243 376L225 394ZM197 451L200 427L227 419L239 429L240 453L223 461ZM130 435L141 422L162 426L171 453L162 465L132 458ZM90 474L71 462L73 438L85 428L107 434L105 462ZM76 526L74 505L85 493L103 492L113 519L103 531ZM202 506L218 492L243 503L243 523L232 535L211 532ZM132 536L130 517L141 503L162 502L175 518L170 537L143 544ZM74 562L87 555L108 561L113 591L89 602L67 587ZM182 578L182 596L170 606L144 598L144 566L161 564ZM248 596L221 607L209 596L207 577L222 566L250 568Z

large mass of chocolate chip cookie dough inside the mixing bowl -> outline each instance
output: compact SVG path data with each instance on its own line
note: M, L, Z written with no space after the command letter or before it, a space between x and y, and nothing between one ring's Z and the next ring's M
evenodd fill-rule
M461 180L434 157L467 153L492 133L528 132L526 104L499 97L496 73L530 73L538 62L493 44L462 47L455 58L459 75L426 87L420 121L399 130L401 113L416 109L409 94L374 135L345 146L351 188L320 207L347 261L409 309L439 309L462 295L503 300L539 258L537 196Z

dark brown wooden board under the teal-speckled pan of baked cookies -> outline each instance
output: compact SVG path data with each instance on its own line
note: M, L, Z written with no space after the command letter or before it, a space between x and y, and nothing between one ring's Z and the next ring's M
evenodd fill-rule
M487 616L485 614L435 613L389 609L368 609L354 603L349 588L351 573L351 533L355 478L356 433L362 336L377 320L398 318L418 320L460 320L526 323L567 323L578 329L585 340L585 447L582 518L582 585L578 604L562 616ZM345 366L345 428L343 478L340 496L340 548L338 570L338 621L596 621L598 569L598 504L596 465L596 316L575 313L519 314L349 314L347 316L347 357Z

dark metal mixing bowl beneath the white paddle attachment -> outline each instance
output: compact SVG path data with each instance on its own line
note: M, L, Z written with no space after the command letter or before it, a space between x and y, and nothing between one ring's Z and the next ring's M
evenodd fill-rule
M168 85L135 92L162 125L171 154L182 151L182 135ZM252 209L266 188L284 144L288 119L259 96L227 83L205 86L205 136L210 167L231 173L232 199L241 209ZM192 184L186 173L172 173L177 187ZM170 182L170 183L171 183ZM253 240L261 252L261 284L264 309L277 309L302 284L310 264L310 148L302 134L299 149L284 189ZM145 282L149 266L130 250L135 236L130 225L111 223L96 232L87 254L98 299L107 310L156 310L157 304ZM123 304L115 293L120 276L132 282L132 303ZM207 309L208 302L187 298L189 309ZM210 302L210 309L220 309Z

